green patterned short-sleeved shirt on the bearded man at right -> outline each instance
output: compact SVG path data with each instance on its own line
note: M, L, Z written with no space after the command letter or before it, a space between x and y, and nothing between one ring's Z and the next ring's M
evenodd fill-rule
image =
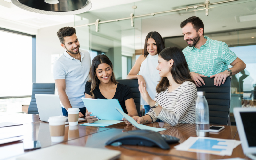
M188 46L182 52L190 72L209 77L228 69L228 64L236 60L237 56L225 42L212 40L207 36L204 38L206 42L200 49Z

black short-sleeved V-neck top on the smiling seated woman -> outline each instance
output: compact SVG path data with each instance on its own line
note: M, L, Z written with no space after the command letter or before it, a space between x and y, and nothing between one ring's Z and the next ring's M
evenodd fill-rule
M91 82L86 82L84 93L90 95L90 91L91 91ZM101 94L99 85L96 85L95 89L93 90L93 94L94 94L95 99L98 99L98 98L107 99ZM116 93L112 99L117 99L119 101L123 111L126 114L127 114L127 110L126 110L126 106L125 106L125 100L128 100L130 98L133 98L131 88L128 87L127 85L117 83Z

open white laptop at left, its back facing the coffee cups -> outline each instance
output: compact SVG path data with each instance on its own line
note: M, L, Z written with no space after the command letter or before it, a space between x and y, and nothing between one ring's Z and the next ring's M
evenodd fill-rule
M49 117L62 116L62 108L60 106L59 95L55 94L35 94L36 104L40 120L47 122ZM66 117L65 124L69 124L68 117ZM78 122L86 121L84 118L79 118Z

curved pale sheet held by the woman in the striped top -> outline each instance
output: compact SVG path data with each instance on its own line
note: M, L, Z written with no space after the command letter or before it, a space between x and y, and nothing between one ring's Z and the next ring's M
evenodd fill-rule
M155 128L155 127L149 127L143 124L138 124L132 117L128 116L126 113L124 113L123 111L121 111L120 109L116 108L116 110L124 116L125 119L127 119L127 121L129 121L131 124L133 124L135 127L141 129L141 130L151 130L151 131L155 131L155 132L160 132L160 131L164 131L166 130L166 128Z

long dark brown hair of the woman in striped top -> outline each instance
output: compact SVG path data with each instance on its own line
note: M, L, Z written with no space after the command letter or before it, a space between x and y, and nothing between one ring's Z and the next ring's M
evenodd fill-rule
M170 69L173 80L177 84L182 84L185 81L191 81L192 77L190 75L188 64L186 58L182 51L177 47L168 47L161 51L158 55L166 61L173 60L174 63ZM169 80L167 77L162 77L160 82L156 86L156 92L160 93L161 91L165 91L167 87L169 87Z

